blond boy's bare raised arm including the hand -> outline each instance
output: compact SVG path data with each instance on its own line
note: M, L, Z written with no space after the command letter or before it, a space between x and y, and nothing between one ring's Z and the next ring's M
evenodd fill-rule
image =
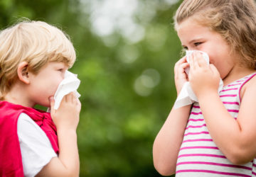
M51 116L57 127L59 156L50 160L37 176L79 176L79 156L76 128L79 122L80 101L73 93L63 98L58 110L50 101Z

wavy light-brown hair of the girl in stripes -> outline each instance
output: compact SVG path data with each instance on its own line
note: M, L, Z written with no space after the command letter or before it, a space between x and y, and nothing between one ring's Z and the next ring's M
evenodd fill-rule
M256 7L254 0L184 0L174 25L187 18L219 33L241 64L256 69Z

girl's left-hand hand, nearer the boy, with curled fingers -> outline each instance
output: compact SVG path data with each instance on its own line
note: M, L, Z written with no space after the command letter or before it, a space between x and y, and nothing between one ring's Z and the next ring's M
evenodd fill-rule
M188 76L185 72L186 67L189 67L188 62L186 62L186 57L179 59L175 64L174 79L177 93L181 91L183 84L188 81Z

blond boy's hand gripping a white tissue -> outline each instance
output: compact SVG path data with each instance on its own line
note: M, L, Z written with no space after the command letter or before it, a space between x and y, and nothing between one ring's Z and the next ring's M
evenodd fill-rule
M58 129L72 129L76 130L79 122L79 114L81 110L81 103L76 98L75 93L69 93L63 97L58 110L53 108L54 99L50 98L50 115L53 118L57 130Z

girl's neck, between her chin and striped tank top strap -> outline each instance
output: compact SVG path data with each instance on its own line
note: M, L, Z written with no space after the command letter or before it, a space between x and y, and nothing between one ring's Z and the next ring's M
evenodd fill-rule
M223 78L223 84L226 86L233 81L236 81L254 72L256 72L255 69L249 69L247 67L236 64L235 67L233 67L233 69L231 69L231 71L228 73L228 75Z

